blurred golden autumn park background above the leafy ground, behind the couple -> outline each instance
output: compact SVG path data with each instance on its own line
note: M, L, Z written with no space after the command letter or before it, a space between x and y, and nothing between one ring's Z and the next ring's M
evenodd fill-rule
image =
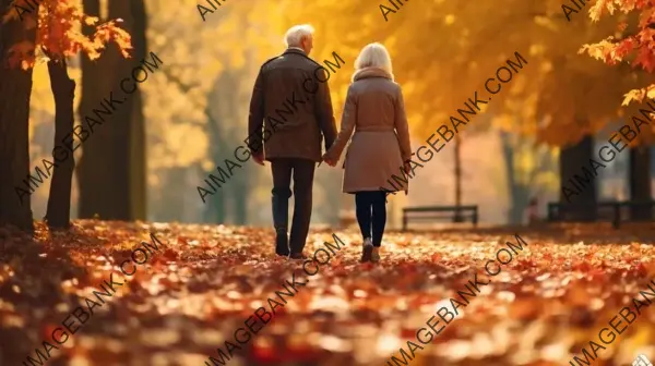
M505 0L502 5L497 1L412 1L398 10L384 4L395 10L386 19L380 2L369 0L313 0L300 7L290 0L230 0L217 10L187 0L138 2L143 2L144 14L121 10L107 0L99 2L102 21L120 17L133 39L145 36L145 42L132 42L135 52L153 51L163 61L140 85L142 115L129 117L131 125L142 129L144 135L135 133L124 146L116 147L129 149L131 166L123 167L122 176L114 174L93 183L110 190L121 180L130 182L130 197L120 198L129 200L124 220L271 224L269 163L262 168L249 160L235 169L228 183L205 197L206 204L196 187L206 187L203 181L217 166L225 167L224 159L234 160L235 148L247 136L257 72L265 60L284 51L283 35L296 24L315 27L314 60L333 60L332 52L337 52L345 61L329 82L337 126L359 50L373 41L388 47L405 94L414 149L473 98L475 90L484 90L484 82L493 77L505 60L514 60L514 52L527 60L485 113L464 127L460 148L454 141L449 143L417 170L408 196L390 197L390 225L395 228L405 206L454 205L457 185L462 204L479 205L483 224L525 223L532 198L538 199L539 213L545 216L546 203L560 199L561 151L584 155L584 146L592 143L595 147L590 157L597 158L599 146L639 107L622 107L623 95L652 82L650 75L629 65L606 65L577 52L584 44L617 35L619 22L634 23L635 17L621 14L593 23L585 9L572 13L569 22L559 0ZM198 4L213 11L204 14L205 21ZM94 73L97 83L116 89L118 78L107 80L103 68L112 62L133 66L140 60L103 54L90 64L81 62L81 57L71 59L75 110L87 93L82 88L83 73ZM35 66L33 81L31 173L41 166L41 159L51 157L55 132L55 105L45 63ZM79 120L76 115L75 123ZM643 180L644 174L653 185L651 135L642 132L641 146L626 149L599 170L593 199L628 199L630 181ZM76 160L94 137L75 151ZM103 212L110 210L87 207L81 211L79 199L84 185L92 184L84 176L105 169L103 159L110 160L112 154L106 150L94 157L86 170L75 171L71 218L97 213L102 219ZM635 157L639 164L630 169L630 159ZM461 176L455 174L455 166L460 166ZM577 173L581 167L570 169ZM353 198L341 193L341 179L342 169L325 164L318 169L314 224L335 224L352 210ZM46 180L32 194L35 219L45 216L51 181Z

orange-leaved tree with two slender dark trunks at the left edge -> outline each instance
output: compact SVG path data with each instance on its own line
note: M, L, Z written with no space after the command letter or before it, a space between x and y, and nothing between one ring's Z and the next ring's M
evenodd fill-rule
M109 41L116 41L127 56L130 37L114 22L98 25L97 19L85 15L72 1L43 1L29 9L19 2L3 1L2 9L5 13L0 23L0 56L3 60L0 76L8 82L0 86L0 130L7 132L1 134L7 141L0 144L0 172L3 173L0 224L31 231L31 192L20 192L19 187L23 181L29 182L31 173L27 125L33 68L40 60L48 61L56 102L57 145L73 127L74 83L68 76L66 59L80 52L97 58ZM82 24L94 26L94 32L84 36ZM55 227L67 227L70 219L72 152L68 159L70 161L57 163L60 159L52 157L46 166L53 169L46 217Z

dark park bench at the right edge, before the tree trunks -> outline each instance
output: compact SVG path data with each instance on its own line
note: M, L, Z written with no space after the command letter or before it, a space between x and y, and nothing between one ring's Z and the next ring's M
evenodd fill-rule
M548 203L548 221L583 221L580 219L580 215L577 213L579 210L576 210L576 208L580 209L585 206L590 207L590 205ZM632 217L632 212L635 210L651 210L651 213L653 213L655 202L636 203L631 200L608 200L599 202L595 206L596 209L593 212L594 216L586 221L610 221L612 227L618 229L621 225L621 222L643 221L643 219Z

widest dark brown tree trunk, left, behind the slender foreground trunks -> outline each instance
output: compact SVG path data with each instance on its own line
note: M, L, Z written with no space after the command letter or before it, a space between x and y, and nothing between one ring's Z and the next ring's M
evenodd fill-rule
M134 210L142 215L145 212L145 180L139 179L145 174L143 169L140 170L145 166L144 154L143 150L133 154L133 147L145 148L143 115L140 111L140 97L135 96L139 91L127 95L119 85L122 78L132 75L136 62L143 60L145 25L135 24L132 13L142 17L140 22L145 16L140 1L109 1L108 5L108 17L122 19L123 28L134 35L134 51L133 58L123 59L116 45L110 44L98 60L91 62L83 58L81 117L93 117L93 109L102 109L103 100L109 99L110 93L119 102L115 105L116 109L111 109L111 115L95 127L93 136L84 144L79 169L79 215L82 218L92 218L97 213L106 220L133 220ZM88 15L98 16L97 0L84 0L84 9ZM142 76L139 72L136 74ZM138 83L135 87L139 87ZM133 118L138 119L134 125ZM134 162L139 167L133 167ZM138 171L139 176L134 178L132 173ZM141 202L135 203L134 198Z

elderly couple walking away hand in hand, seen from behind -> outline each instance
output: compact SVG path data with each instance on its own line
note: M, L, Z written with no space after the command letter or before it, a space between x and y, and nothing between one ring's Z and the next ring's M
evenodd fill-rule
M318 63L309 58L313 47L313 28L297 25L285 35L287 49L266 61L257 77L248 121L253 160L271 162L273 175L272 209L275 228L275 253L290 259L306 259L302 254L312 208L312 186L317 162L335 167L348 141L343 164L343 192L355 195L357 222L361 230L361 261L379 261L386 223L388 180L404 169L412 157L409 132L401 86L394 82L391 58L381 44L362 48L355 61L355 73L343 109L341 131L336 132L327 83L303 102L284 124L270 125L273 115L291 95L310 78ZM262 129L275 131L263 142ZM325 154L321 156L321 142ZM252 146L260 146L259 149ZM261 149L261 146L264 148ZM290 235L288 203L295 197ZM407 184L397 191L407 192ZM393 192L393 190L392 190Z

